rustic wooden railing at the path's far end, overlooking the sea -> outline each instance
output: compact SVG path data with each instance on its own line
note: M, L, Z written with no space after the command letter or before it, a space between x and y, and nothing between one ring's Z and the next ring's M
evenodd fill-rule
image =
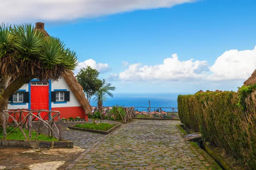
M93 107L92 115L99 114L101 119L122 119L124 123L133 118L171 118L177 119L177 108L174 107Z

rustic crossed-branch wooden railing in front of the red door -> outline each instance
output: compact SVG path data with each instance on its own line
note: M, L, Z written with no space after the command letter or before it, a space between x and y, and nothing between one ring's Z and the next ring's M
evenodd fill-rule
M41 112L47 112L47 115L42 118ZM27 114L25 114L27 113ZM55 113L52 115L52 113ZM59 141L61 141L61 118L60 118L60 112L59 111L49 111L49 110L29 110L29 109L17 109L17 110L4 110L3 111L3 120L6 120L6 118L11 118L11 121L14 123L9 123L8 121L3 121L3 139L6 138L10 133L12 133L16 128L19 128L20 131L23 133L25 139L27 140L28 137L24 133L23 129L29 131L29 139L32 137L32 131L35 130L37 132L37 135L35 136L35 139L42 133L43 130L48 130L48 137L55 137ZM58 126L56 125L54 118L58 118ZM17 118L17 119L16 119ZM48 119L48 121L45 121ZM6 123L13 127L13 129L6 134ZM54 128L52 128L52 125L55 127L56 132L54 132Z

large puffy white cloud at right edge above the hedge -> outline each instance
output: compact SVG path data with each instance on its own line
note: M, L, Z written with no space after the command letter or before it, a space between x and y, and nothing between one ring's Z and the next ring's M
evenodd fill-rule
M253 50L230 50L217 58L209 67L208 80L246 80L256 69L256 47Z

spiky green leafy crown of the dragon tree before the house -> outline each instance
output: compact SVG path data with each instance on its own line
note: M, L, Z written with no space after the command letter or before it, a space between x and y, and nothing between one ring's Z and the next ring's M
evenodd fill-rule
M75 69L76 53L55 37L31 24L0 25L0 74L13 78L32 75L57 80L65 69Z

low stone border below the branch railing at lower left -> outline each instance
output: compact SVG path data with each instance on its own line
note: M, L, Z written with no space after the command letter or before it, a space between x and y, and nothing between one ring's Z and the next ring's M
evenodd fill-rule
M0 139L0 146L24 147L24 148L73 148L72 141L29 141L29 140L6 140Z

